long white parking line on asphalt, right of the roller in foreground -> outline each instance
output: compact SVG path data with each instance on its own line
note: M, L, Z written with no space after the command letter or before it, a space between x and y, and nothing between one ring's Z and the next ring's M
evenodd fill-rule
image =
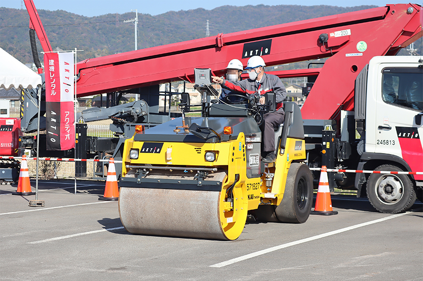
M402 213L402 214L396 214L396 215L392 215L392 216L385 217L385 218L382 218L382 219L375 219L375 220L363 222L363 223L360 223L360 224L356 224L356 225L353 225L353 226L348 226L348 227L341 228L341 229L334 230L334 231L330 231L330 232L327 232L327 233L324 233L324 234L319 234L319 235L315 235L315 236L312 236L312 237L309 237L309 238L304 238L304 239L301 239L301 240L298 240L298 241L289 242L289 243L282 244L282 245L279 245L279 246L271 247L271 248L268 248L268 249L265 249L265 250L256 251L256 252L253 252L251 254L247 254L247 255L244 255L244 256L240 256L240 257L225 261L225 262L221 262L219 264L210 265L209 267L223 267L223 266L226 266L226 265L232 265L232 264L235 264L235 263L238 263L238 262L241 262L241 261L244 261L244 260L248 260L248 259L260 256L260 255L264 255L264 254L267 254L267 253L270 253L270 252L273 252L273 251L276 251L276 250L281 250L283 248L288 248L288 247L295 246L295 245L298 245L298 244L302 244L302 243L317 240L317 239L320 239L320 238L328 237L328 236L331 236L331 235L343 233L345 231L349 231L349 230L353 230L353 229L360 228L360 227L363 227L363 226L382 222L382 221L385 221L385 220L388 220L388 219L398 218L398 217L407 215L409 213L410 212L406 212L406 213Z

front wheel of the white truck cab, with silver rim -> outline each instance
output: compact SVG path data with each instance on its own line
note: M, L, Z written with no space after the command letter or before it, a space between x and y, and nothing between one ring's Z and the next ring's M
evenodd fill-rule
M381 165L375 171L402 171L393 165ZM405 174L372 173L367 181L367 197L382 213L406 212L416 201L410 178Z

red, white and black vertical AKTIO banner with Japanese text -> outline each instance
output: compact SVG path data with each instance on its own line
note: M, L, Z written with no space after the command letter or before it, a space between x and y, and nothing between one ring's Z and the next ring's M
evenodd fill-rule
M47 150L75 147L74 55L45 53Z

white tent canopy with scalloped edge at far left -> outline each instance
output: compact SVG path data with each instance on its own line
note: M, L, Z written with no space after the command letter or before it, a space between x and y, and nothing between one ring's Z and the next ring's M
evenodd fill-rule
M41 85L41 76L0 48L0 88L31 89Z

